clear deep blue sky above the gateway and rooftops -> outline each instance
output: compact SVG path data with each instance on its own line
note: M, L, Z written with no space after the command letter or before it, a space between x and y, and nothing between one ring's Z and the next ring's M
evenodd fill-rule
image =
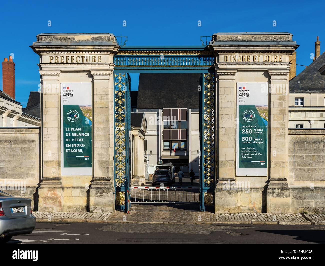
M325 45L322 1L9 2L0 4L0 58L14 54L16 100L24 107L30 91L37 91L40 83L39 58L29 47L39 33L110 32L128 36L127 45L201 45L201 35L215 32L291 32L300 45L300 65L312 62L316 36L321 53ZM297 66L297 73L303 69ZM2 79L0 83L2 89Z

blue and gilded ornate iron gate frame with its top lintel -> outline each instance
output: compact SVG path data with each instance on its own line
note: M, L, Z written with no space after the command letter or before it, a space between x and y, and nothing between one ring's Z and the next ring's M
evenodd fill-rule
M124 46L114 57L115 206L129 211L131 114L128 73L201 73L200 209L214 205L215 57L208 46ZM123 91L123 86L126 91Z

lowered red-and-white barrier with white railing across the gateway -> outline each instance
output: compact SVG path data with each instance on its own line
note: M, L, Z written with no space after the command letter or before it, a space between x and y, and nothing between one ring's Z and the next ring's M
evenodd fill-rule
M136 202L200 202L197 186L132 186L131 203Z

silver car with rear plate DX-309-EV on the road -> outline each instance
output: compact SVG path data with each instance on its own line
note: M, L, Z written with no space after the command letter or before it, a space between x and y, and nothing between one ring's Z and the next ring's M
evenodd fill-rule
M35 229L32 200L11 196L0 190L0 243L8 242L14 235L30 234Z

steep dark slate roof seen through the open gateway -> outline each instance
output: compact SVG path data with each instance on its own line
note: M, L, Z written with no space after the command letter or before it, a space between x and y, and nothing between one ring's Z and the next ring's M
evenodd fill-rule
M140 73L138 109L200 108L201 74Z

